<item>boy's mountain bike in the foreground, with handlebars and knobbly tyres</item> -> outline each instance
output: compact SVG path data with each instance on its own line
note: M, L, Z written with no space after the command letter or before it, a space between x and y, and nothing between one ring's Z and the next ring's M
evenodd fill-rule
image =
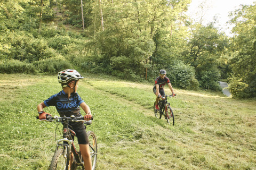
M37 116L38 118L38 116ZM58 116L50 116L48 115L46 120L47 122L55 122L57 125L55 129L55 138L57 138L57 129L58 125L63 124L63 139L57 140L57 146L55 149L55 153L52 157L52 161L49 167L49 170L76 170L76 169L84 169L84 162L81 155L81 152L78 151L75 147L74 140L72 135L75 136L76 133L69 129L69 122L84 122L85 126L92 124L92 121L85 121L84 117L58 117ZM57 122L57 123L56 123ZM59 130L60 131L60 130ZM97 140L93 131L87 132L87 137L89 139L89 147L90 147L90 155L92 159L92 170L96 167L97 161ZM73 154L73 155L72 155Z

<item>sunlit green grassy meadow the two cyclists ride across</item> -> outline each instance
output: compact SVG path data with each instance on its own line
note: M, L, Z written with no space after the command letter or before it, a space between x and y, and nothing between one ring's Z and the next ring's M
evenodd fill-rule
M61 90L57 77L1 74L0 80L0 169L47 169L56 125L36 120L36 106ZM172 126L154 116L152 88L89 74L79 82L94 116L87 130L97 135L97 169L256 169L255 99L174 88ZM58 115L54 107L44 111Z

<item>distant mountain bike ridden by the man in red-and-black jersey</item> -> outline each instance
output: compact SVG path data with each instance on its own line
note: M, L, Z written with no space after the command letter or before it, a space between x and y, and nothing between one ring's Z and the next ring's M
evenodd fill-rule
M164 99L159 99L158 106L159 111L156 109L156 101L154 103L154 113L155 116L159 119L161 119L162 115L164 115L167 123L172 123L174 125L174 114L172 112L172 108L170 106L170 103L168 103L167 98L172 97L172 95L165 95L163 96Z

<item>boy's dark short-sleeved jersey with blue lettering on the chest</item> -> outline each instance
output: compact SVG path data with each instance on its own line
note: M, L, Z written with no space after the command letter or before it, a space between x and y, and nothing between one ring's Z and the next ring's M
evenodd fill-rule
M45 106L55 106L60 116L70 117L81 116L80 105L84 100L77 94L72 93L68 98L68 94L66 94L63 90L58 92L58 94L52 95L49 99L44 100ZM83 127L83 122L70 122L70 125L76 129L79 127Z

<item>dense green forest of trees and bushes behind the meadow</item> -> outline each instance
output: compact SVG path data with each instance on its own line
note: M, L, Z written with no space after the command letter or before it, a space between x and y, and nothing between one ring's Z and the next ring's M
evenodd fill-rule
M256 6L230 13L234 36L185 15L190 0L0 1L0 73L79 71L256 97ZM203 17L203 16L202 16ZM218 21L215 21L218 22Z

